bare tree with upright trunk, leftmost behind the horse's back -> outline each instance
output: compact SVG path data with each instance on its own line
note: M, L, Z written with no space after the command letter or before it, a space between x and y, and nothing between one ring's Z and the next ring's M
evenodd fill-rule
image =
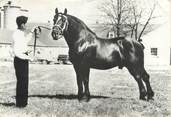
M100 7L105 19L109 19L106 25L112 25L117 37L122 35L124 22L127 22L130 18L131 7L128 7L129 2L130 0L109 0Z

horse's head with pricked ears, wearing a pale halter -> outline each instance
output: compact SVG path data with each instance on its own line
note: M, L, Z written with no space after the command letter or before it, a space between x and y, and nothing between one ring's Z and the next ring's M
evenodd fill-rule
M67 9L64 10L64 13L58 13L58 9L55 9L55 16L53 18L53 28L52 28L52 37L54 40L58 40L64 34L64 31L68 28L68 19L67 19Z

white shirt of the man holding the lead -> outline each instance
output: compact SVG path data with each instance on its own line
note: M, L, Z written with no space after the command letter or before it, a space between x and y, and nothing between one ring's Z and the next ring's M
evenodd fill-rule
M13 54L20 59L30 59L25 53L28 52L28 43L32 39L32 33L25 34L24 31L19 29L15 30L13 33Z

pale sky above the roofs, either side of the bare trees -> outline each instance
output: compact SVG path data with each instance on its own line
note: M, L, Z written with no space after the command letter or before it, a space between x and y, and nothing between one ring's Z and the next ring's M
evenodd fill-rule
M1 2L2 1L2 2ZM1 6L9 0L0 0ZM101 2L104 0L11 0L13 4L19 5L24 9L29 10L30 20L33 22L48 22L52 21L55 8L60 12L67 8L68 14L74 15L82 19L85 23L95 23L100 18L98 9ZM158 2L156 13L162 12L168 15L170 13L171 0L139 0L144 6L148 7L152 1Z

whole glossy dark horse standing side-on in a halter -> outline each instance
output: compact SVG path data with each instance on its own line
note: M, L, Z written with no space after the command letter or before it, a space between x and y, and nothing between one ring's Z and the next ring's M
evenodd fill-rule
M150 86L149 75L144 69L144 52L140 42L117 37L102 39L96 36L80 19L55 10L52 37L54 40L63 35L69 46L78 85L78 99L89 101L90 68L110 69L126 67L138 83L140 99L153 99L154 92ZM143 82L146 84L144 87Z

